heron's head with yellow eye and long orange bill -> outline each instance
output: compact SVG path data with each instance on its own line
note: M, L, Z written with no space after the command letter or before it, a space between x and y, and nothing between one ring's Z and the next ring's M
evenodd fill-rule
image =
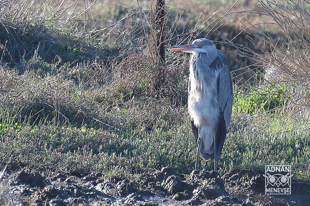
M174 46L168 49L172 51L184 51L188 53L217 53L215 45L208 39L196 39L192 44Z

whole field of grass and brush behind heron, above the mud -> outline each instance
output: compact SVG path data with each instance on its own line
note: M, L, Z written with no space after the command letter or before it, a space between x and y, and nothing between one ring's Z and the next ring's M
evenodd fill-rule
M166 51L162 64L155 55L155 3L0 3L2 170L193 170L189 56ZM292 165L308 179L309 8L305 0L166 1L165 47L207 37L232 71L221 174Z

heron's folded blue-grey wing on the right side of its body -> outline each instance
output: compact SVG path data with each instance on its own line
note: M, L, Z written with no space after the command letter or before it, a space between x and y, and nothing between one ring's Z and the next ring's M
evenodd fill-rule
M218 159L224 146L228 125L232 115L232 77L227 60L221 51L218 51L218 57L214 60L214 62L212 62L210 68L214 68L219 71L216 85L220 116L216 128L214 145L214 156L215 159Z

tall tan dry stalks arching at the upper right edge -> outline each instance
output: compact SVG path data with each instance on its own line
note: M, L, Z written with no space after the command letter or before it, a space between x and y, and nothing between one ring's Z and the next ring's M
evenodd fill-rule
M286 96L290 97L286 101L287 115L302 114L306 117L308 116L310 77L308 72L310 66L308 2L303 0L282 3L281 1L277 3L260 1L259 5L261 9L256 12L271 17L273 24L281 28L282 32L281 36L275 38L269 33L262 35L261 30L255 26L252 26L250 30L252 34L259 37L260 42L270 47L270 52L256 57L261 67L274 76L267 78L265 84L283 82L286 85Z

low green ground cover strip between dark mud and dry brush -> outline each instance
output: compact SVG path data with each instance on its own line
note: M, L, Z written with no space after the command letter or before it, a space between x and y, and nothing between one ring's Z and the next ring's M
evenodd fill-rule
M121 115L128 113L122 111ZM296 125L286 115L279 117L279 113L239 118L232 121L219 162L221 171L266 164L297 165L308 159L310 141L305 124ZM122 131L48 122L28 127L1 126L1 158L6 162L13 157L8 169L26 164L30 168L40 165L41 170L48 171L128 174L170 165L180 173L190 173L196 150L188 120L156 128L163 122L155 117L152 131L146 131L142 127L145 125L132 129L130 122ZM203 161L202 167L211 170L212 164Z

